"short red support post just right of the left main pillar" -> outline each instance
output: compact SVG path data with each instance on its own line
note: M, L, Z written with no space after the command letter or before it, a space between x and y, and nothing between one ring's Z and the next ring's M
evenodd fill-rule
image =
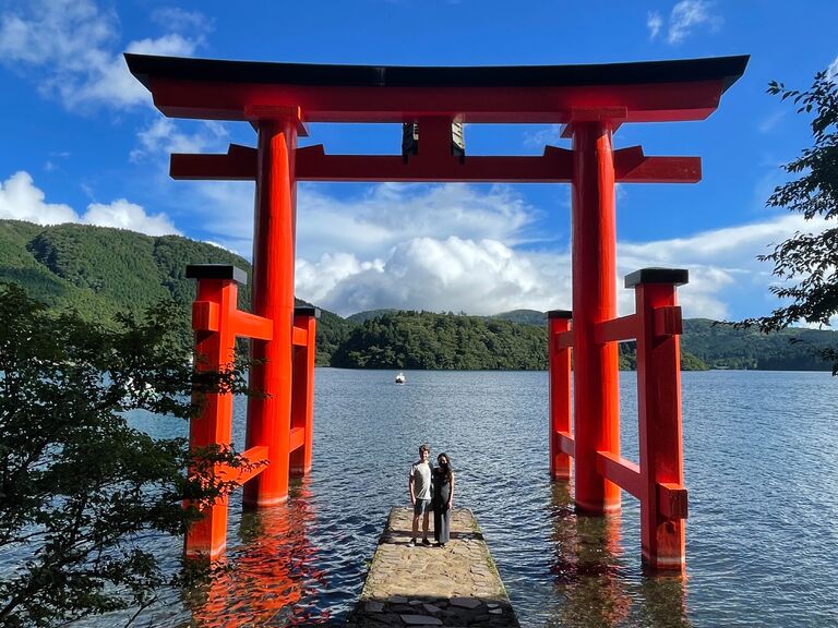
M291 451L291 475L306 475L311 471L311 454L314 444L314 358L320 310L297 307L294 326L306 330L306 343L294 350L294 396L291 397L291 430L303 430L301 447Z

